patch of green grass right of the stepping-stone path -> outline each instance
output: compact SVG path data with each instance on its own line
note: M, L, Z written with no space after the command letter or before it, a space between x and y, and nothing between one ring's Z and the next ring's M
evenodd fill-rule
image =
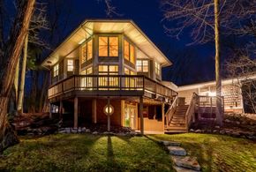
M188 153L198 157L202 171L256 171L256 144L244 138L196 133L150 138L181 142Z

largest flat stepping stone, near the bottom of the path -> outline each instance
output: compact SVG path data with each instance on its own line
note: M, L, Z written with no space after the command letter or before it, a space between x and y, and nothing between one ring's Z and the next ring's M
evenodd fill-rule
M200 171L200 164L195 157L171 156L171 159L178 167Z

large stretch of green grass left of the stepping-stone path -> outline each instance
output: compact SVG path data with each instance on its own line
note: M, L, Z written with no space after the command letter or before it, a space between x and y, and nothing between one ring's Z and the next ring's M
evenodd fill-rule
M169 155L145 137L57 134L21 138L0 171L172 171Z

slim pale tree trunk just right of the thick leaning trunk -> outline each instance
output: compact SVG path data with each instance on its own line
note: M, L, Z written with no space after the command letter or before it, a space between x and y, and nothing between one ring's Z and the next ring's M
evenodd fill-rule
M24 86L25 86L25 77L26 77L27 42L28 42L28 33L26 34L26 38L24 41L23 60L22 60L21 74L20 74L19 99L18 99L18 105L17 105L18 107L17 110L19 114L23 113Z

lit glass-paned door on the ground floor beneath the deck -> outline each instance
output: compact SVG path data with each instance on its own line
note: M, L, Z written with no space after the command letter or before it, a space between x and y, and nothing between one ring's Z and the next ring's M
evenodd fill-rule
M135 128L136 106L125 104L124 106L124 126Z

